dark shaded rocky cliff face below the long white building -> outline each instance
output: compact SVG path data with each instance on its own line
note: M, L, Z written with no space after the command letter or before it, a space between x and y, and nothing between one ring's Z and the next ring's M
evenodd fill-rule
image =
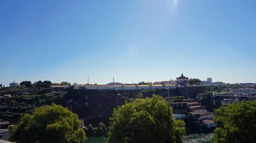
M185 87L182 89L173 89L170 96L190 95L193 93L203 92L203 90ZM157 94L163 97L168 96L167 90L85 90L70 89L64 95L63 106L72 108L81 118L111 116L113 108L125 104L125 100L135 98L138 93L142 93L144 97L152 97Z

